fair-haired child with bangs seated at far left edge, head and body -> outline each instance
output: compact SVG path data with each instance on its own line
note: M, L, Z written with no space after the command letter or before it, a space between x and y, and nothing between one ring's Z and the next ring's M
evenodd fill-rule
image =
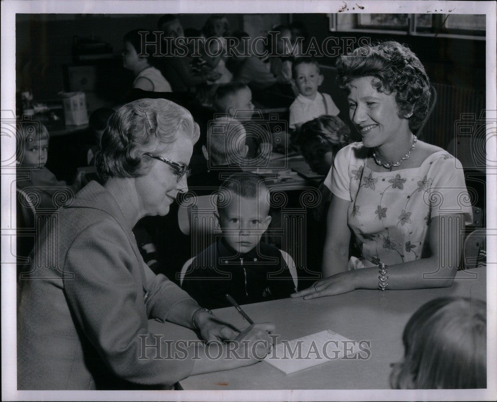
M53 196L62 189L70 193L78 192L82 187L83 172L78 172L74 184L68 185L59 181L55 175L45 167L48 159L49 134L46 127L37 122L23 122L17 125L17 181L19 190L35 191L39 203L36 208L56 209ZM66 194L67 195L67 194Z

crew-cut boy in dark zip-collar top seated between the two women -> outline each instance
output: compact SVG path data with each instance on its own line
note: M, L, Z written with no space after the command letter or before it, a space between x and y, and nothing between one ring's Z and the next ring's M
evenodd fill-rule
M260 241L271 222L263 180L255 174L231 175L219 192L222 235L185 263L183 288L210 309L231 306L226 294L239 304L289 297L297 285L293 259Z

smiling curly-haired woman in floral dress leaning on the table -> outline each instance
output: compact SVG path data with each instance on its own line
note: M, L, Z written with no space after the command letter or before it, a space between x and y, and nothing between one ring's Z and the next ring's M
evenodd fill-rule
M327 177L325 279L293 297L451 286L472 210L460 162L413 134L430 97L422 64L384 42L341 56L336 67L362 142L341 149ZM349 260L351 231L359 259Z

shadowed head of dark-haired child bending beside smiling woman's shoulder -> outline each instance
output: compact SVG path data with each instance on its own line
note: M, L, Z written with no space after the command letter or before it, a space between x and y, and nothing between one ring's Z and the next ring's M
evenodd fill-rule
M348 143L350 128L337 116L320 116L304 123L300 151L313 171L326 175L336 153Z

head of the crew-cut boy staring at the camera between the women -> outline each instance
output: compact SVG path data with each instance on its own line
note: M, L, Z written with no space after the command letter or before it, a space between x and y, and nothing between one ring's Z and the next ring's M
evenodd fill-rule
M266 231L269 190L264 179L252 173L233 174L219 187L217 209L224 241L239 253L247 253Z

